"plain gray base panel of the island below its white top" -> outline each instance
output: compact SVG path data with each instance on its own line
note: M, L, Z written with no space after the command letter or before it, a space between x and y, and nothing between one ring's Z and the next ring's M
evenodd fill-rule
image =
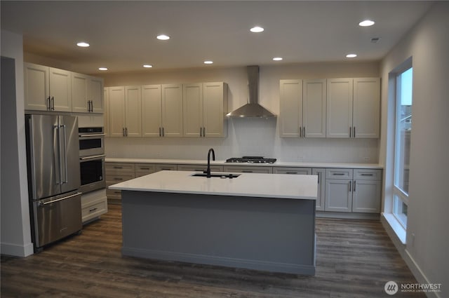
M122 189L122 213L123 255L315 274L313 199Z

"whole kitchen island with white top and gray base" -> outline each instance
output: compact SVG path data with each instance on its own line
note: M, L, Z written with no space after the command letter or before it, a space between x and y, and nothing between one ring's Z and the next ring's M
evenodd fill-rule
M316 176L194 175L109 187L122 191L123 255L314 275Z

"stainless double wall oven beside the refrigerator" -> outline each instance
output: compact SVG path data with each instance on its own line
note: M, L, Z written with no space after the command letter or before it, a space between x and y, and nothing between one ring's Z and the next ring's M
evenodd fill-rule
M85 194L106 187L105 131L102 127L83 127L78 132L80 191Z

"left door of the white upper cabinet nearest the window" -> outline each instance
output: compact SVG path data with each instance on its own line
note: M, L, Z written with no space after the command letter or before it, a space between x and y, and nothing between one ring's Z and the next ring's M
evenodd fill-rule
M352 79L328 79L327 137L350 137L352 132ZM349 131L351 130L351 132Z

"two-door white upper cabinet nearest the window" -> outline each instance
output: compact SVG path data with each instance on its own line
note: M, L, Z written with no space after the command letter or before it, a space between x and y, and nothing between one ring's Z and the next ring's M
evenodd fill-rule
M379 137L380 79L328 79L327 137Z

